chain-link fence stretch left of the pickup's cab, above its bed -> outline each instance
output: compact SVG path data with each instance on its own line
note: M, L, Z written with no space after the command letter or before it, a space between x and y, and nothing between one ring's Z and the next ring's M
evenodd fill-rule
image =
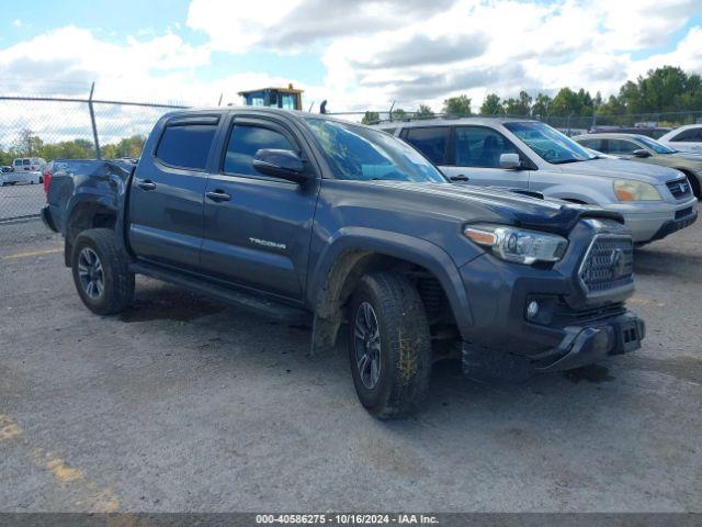
M34 231L56 158L136 158L154 123L184 108L89 99L0 97L0 232Z

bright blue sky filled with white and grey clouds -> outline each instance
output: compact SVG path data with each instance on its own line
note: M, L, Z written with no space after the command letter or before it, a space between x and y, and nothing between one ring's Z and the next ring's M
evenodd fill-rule
M0 93L406 110L467 93L604 96L665 64L702 72L702 0L0 0Z

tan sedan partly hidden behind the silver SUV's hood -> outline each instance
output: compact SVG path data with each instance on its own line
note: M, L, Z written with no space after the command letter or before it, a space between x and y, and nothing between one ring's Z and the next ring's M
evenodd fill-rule
M588 134L574 137L574 141L621 159L675 168L688 177L692 192L702 200L702 154L679 152L645 135Z

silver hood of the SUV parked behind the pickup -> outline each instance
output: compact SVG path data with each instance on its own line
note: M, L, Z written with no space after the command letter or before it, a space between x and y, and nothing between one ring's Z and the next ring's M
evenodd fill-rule
M672 168L626 159L591 159L589 161L556 165L564 173L609 179L635 179L650 184L665 184L679 177Z

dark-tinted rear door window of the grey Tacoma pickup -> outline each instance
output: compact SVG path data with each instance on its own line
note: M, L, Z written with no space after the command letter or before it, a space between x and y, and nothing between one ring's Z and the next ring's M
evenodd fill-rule
M171 167L204 170L216 131L214 124L166 126L156 157Z

